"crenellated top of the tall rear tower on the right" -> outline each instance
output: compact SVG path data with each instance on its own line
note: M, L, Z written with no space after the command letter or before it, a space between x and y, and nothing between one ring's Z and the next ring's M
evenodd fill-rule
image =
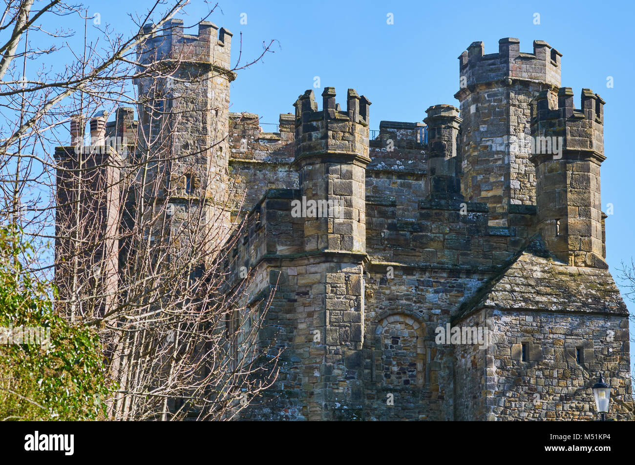
M520 41L505 37L498 41L498 53L485 55L483 42L472 42L459 57L461 87L501 79L547 82L560 85L562 54L544 41L533 41L533 53L521 53Z

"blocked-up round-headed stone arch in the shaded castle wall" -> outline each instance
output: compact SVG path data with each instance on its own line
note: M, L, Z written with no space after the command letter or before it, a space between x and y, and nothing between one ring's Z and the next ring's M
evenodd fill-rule
M412 389L425 383L425 325L414 315L386 315L375 329L375 370L384 388Z

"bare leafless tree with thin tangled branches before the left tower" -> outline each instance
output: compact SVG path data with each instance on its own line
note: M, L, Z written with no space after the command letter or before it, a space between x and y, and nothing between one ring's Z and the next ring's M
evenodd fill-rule
M187 74L178 56L137 55L187 3L157 1L130 15L130 36L60 0L6 0L0 22L0 215L35 246L25 270L55 272L56 309L98 331L109 419L232 419L277 375L279 353L258 337L271 296L252 295L249 273L229 279L244 231L241 201L220 188L229 178L214 161L228 134L208 124L206 143L175 150L193 113L219 108L184 110L184 96L166 82L196 92L220 71ZM73 30L46 29L53 18L83 27L81 48ZM32 46L35 37L53 45ZM262 55L269 51L264 44ZM229 72L262 55L239 58ZM64 65L45 64L55 60ZM142 94L133 86L140 82ZM110 130L104 116L91 122L97 138L84 143L87 115L126 105L142 115L138 124L116 121ZM184 181L185 172L196 175Z

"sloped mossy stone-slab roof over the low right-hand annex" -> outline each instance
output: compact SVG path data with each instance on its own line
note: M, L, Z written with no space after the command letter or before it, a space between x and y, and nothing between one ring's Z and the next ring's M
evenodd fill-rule
M483 307L498 310L628 315L608 270L568 266L549 256L540 236L466 301L453 320Z

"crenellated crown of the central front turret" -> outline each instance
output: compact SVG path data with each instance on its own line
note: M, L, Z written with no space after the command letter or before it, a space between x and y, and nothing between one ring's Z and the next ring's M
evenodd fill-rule
M324 88L322 97L322 110L318 110L312 90L300 95L293 104L296 159L318 154L363 155L367 159L370 101L349 89L344 112L335 103L335 88Z

